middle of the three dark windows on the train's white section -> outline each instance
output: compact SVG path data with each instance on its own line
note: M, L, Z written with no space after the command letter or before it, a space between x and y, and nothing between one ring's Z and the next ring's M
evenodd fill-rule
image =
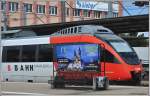
M22 50L23 62L35 62L36 45L25 45Z

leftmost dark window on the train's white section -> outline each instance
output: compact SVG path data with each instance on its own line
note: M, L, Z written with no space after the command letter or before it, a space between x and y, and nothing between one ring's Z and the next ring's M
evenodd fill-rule
M19 46L3 47L3 62L19 62L20 61L20 48Z

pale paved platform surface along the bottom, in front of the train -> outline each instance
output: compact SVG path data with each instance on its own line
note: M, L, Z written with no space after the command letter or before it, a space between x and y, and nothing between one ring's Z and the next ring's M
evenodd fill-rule
M67 86L64 89L51 89L47 83L2 82L2 96L148 96L149 87L110 86L108 90L93 91L89 86Z

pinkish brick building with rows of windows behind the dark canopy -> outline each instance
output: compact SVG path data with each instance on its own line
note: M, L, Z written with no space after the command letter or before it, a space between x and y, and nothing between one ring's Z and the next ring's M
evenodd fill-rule
M106 0L107 1L107 0ZM66 22L107 18L108 1L66 0ZM112 0L113 17L122 16L122 7ZM62 22L61 0L1 0L1 11L9 27ZM3 30L3 28L2 28Z

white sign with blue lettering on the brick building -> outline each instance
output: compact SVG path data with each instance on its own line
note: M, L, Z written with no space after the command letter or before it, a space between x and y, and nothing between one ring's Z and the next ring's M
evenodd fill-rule
M113 11L118 12L118 4L113 4ZM81 1L76 0L75 7L77 9L96 10L96 11L108 11L108 3L95 2L95 1Z

